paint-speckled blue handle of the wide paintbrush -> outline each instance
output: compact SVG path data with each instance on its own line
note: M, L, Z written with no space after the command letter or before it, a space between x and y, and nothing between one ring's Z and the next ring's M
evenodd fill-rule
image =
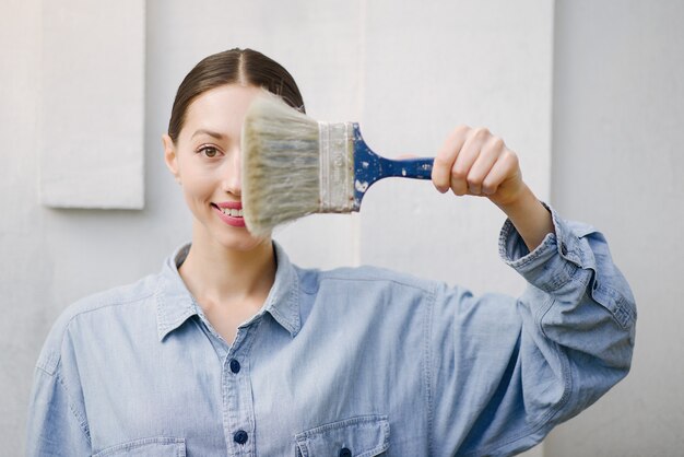
M431 179L433 157L390 160L376 154L361 136L358 125L354 127L354 210L374 183L388 177Z

